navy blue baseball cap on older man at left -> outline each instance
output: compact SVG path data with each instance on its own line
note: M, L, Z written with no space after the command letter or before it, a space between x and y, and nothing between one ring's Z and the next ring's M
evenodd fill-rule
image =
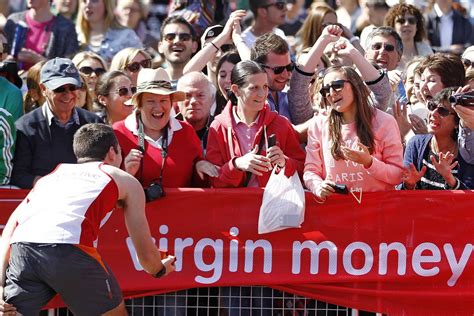
M66 84L82 86L79 71L68 58L53 58L43 65L40 72L40 82L49 90L54 90Z

